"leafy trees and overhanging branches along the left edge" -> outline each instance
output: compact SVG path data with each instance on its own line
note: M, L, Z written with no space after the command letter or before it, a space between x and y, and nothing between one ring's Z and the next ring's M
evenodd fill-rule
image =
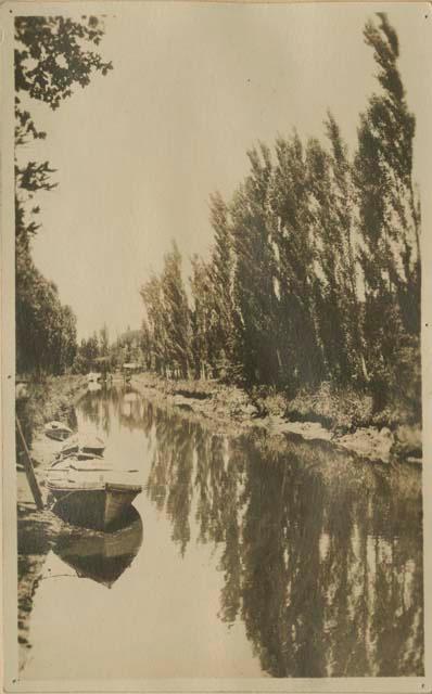
M31 241L40 223L37 195L55 188L49 162L27 158L27 151L47 133L40 131L28 108L31 101L56 110L92 73L105 75L104 63L92 50L104 30L99 20L82 16L15 17L15 267L16 370L63 373L76 356L76 318L63 306L58 288L35 267Z

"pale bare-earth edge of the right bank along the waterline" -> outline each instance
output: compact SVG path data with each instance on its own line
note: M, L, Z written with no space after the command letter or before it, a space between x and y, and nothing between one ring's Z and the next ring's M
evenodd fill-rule
M251 427L265 427L270 435L292 434L306 440L331 441L341 450L383 463L402 460L421 463L419 426L398 425L393 430L387 426L359 426L346 432L320 421L293 421L287 416L287 402L282 399L272 397L267 402L217 382L167 381L154 374L140 374L131 385L153 401L167 402L188 416L204 420L218 433L236 436Z

